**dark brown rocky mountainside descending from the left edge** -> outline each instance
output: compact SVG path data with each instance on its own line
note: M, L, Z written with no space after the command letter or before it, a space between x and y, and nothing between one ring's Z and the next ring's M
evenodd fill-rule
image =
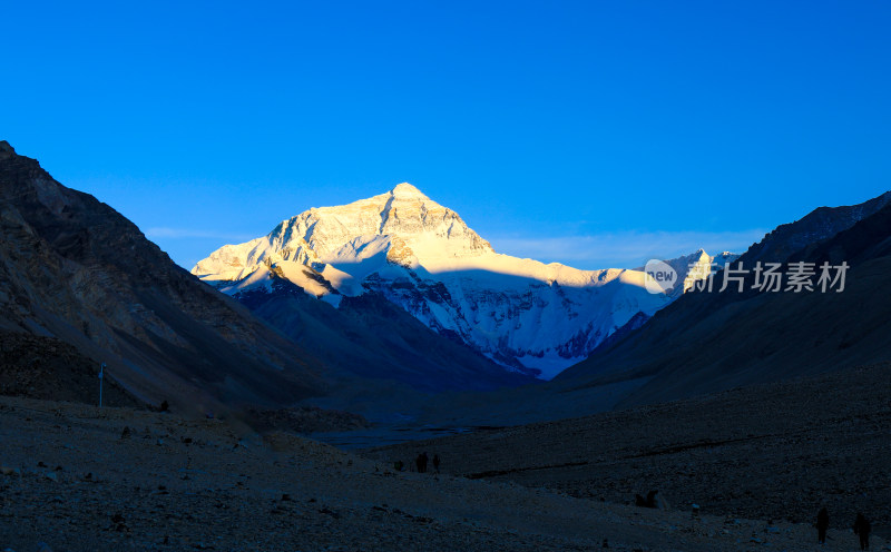
M0 328L75 345L144 401L283 404L323 390L309 355L7 142L0 236Z

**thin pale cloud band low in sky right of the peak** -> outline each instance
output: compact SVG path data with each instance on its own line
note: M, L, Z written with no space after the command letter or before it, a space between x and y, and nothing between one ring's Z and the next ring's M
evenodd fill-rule
M594 235L489 238L498 253L542 263L562 263L582 269L631 268L652 258L675 258L705 249L744 253L767 233L763 228L736 231L611 231Z

